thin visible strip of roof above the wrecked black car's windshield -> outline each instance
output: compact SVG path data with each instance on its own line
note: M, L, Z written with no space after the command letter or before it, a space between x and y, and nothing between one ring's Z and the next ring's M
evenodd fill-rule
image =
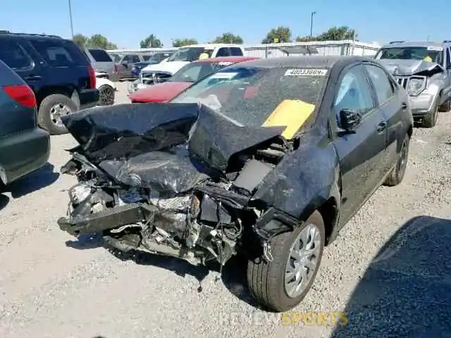
M335 63L353 63L357 61L373 61L365 56L279 56L277 58L257 58L245 61L246 65L259 68L278 67L319 67L332 68Z

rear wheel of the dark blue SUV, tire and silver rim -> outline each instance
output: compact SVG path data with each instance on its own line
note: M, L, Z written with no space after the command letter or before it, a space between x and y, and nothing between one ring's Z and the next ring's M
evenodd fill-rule
M68 130L63 125L61 117L77 111L77 106L68 96L51 94L45 97L37 113L39 126L50 134L66 134Z

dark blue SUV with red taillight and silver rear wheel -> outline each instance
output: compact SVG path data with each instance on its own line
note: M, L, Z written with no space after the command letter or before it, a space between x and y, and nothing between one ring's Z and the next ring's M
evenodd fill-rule
M39 126L51 134L67 132L62 115L99 101L94 68L71 40L0 31L0 60L35 92Z

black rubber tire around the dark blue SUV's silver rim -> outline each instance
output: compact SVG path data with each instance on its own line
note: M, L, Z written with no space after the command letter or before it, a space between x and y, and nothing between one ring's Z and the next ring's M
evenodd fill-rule
M58 105L67 107L70 111L69 113L73 113L78 110L75 102L66 95L51 94L45 97L39 106L37 120L39 126L42 127L42 129L47 130L52 135L61 135L68 132L64 125L56 124L51 118L52 109Z

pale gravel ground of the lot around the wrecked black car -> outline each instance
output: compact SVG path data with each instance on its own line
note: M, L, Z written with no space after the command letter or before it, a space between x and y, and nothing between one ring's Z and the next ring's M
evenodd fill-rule
M125 86L118 84L118 102L128 100ZM390 337L394 329L414 337L409 330L419 334L424 327L451 332L451 265L445 259L450 126L451 114L441 113L432 130L415 129L404 182L378 189L326 249L313 288L292 312L349 312L348 325L336 330L283 325L280 314L256 308L240 262L226 266L221 282L216 271L171 258L121 260L99 239L76 241L59 230L56 220L66 212L66 189L75 180L58 170L68 160L64 149L75 142L68 135L52 137L51 164L0 194L0 337ZM425 217L412 222L416 216ZM387 242L382 258L371 263Z

